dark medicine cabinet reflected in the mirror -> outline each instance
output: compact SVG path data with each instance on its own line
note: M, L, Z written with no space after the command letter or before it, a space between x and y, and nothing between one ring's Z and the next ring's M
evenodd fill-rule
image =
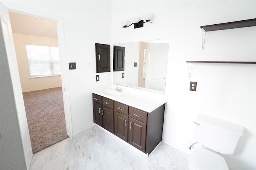
M124 71L124 47L114 46L114 71Z

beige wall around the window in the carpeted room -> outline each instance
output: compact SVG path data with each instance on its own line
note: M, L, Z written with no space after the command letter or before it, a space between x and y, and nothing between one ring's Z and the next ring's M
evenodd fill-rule
M30 78L26 43L58 46L58 39L12 33L20 73L22 92L61 87L61 76Z

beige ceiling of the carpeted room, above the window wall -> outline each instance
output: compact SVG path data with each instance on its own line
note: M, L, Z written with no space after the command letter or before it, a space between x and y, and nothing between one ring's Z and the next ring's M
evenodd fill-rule
M57 38L56 22L9 12L13 33Z

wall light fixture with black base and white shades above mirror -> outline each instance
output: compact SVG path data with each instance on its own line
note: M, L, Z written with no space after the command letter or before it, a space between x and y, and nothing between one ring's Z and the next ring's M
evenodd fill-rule
M134 29L135 28L140 28L144 26L144 23L146 22L151 22L152 23L152 18L154 17L154 14L150 13L150 14L145 14L142 16L144 18L144 20L140 17L135 17L132 18L130 20L125 20L122 21L121 24L123 25L123 28L127 28L130 27L132 24L134 25Z

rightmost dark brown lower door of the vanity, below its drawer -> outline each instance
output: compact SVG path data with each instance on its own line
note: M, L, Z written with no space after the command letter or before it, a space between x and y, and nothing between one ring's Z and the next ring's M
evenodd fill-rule
M146 150L147 125L129 117L128 143L137 149Z

